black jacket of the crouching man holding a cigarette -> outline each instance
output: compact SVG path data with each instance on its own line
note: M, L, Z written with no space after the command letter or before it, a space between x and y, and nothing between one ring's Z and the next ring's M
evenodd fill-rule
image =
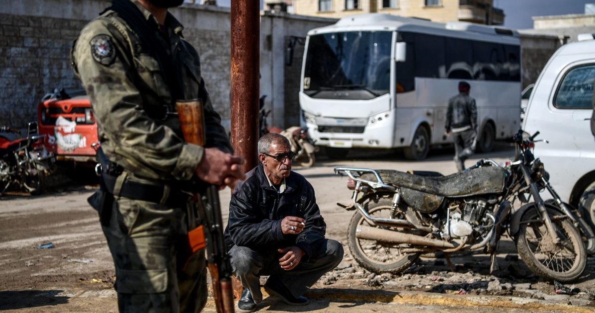
M326 224L316 204L314 188L300 174L291 172L286 190L278 193L268 184L262 164L246 174L231 195L229 221L225 230L227 249L233 245L265 251L298 246L305 258L324 242ZM299 235L281 232L281 220L297 216L306 220Z

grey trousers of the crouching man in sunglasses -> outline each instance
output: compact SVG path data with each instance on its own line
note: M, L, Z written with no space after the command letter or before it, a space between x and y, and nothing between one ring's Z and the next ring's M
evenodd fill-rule
M283 270L279 259L283 256L276 249L262 252L244 246L233 246L229 251L234 276L252 293L256 303L262 301L260 277L277 279L296 298L303 295L324 273L337 267L343 259L343 246L333 239L324 239L318 251L292 270Z

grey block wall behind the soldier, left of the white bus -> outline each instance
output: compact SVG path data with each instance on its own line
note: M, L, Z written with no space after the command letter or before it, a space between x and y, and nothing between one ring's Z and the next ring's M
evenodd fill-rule
M80 89L70 68L70 47L80 29L109 6L108 0L0 0L0 125L23 127L36 120L43 95L57 87ZM229 123L230 9L185 4L171 10L184 24L184 37L201 55L202 73L215 109ZM285 67L288 36L305 37L309 29L334 23L331 19L287 14L261 16L261 93L274 108L271 125L289 127L295 120L300 62ZM296 57L303 46L296 46ZM296 66L296 63L299 66ZM295 78L297 77L297 79ZM296 87L297 86L297 87Z

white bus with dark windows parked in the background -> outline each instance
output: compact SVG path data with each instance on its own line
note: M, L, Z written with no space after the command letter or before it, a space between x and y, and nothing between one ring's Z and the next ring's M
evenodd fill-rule
M299 101L327 155L346 148L405 148L424 159L444 135L448 99L471 84L478 150L519 129L521 48L513 30L361 14L310 30Z

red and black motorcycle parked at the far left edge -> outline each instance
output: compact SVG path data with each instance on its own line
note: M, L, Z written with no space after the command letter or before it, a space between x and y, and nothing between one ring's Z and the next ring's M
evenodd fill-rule
M45 175L52 171L55 158L43 145L45 135L37 133L37 122L27 124L23 138L10 127L0 127L0 196L11 185L31 195L43 192Z

